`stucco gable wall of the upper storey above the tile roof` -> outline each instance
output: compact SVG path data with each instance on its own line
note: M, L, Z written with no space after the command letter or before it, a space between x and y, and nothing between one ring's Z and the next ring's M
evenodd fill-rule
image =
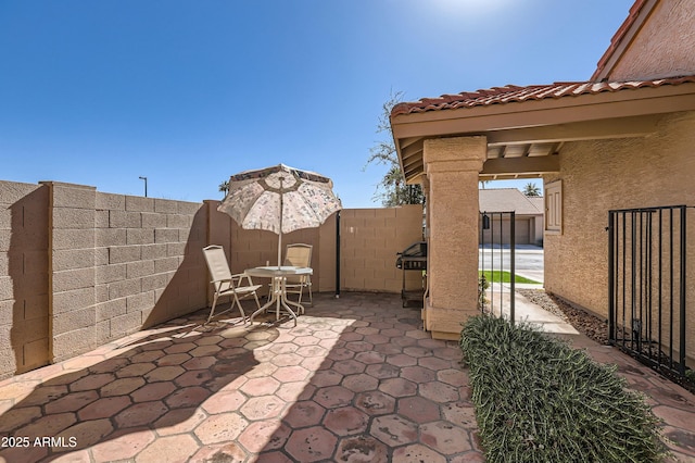
M661 0L609 74L612 80L653 79L695 73L692 0Z

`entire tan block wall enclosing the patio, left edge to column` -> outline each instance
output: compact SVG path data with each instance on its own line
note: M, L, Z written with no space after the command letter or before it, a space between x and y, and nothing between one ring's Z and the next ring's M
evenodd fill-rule
M0 182L0 378L210 306L207 245L235 273L275 264L277 235L241 229L217 204ZM422 208L342 214L341 288L400 291L395 253L421 239ZM282 238L314 246L315 291L336 290L336 224Z

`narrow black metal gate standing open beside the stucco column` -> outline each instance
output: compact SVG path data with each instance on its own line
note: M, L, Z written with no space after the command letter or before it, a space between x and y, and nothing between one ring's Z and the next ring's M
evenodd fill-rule
M515 318L515 221L511 212L480 212L478 305L482 312ZM508 284L502 275L509 273ZM507 311L508 308L508 311Z

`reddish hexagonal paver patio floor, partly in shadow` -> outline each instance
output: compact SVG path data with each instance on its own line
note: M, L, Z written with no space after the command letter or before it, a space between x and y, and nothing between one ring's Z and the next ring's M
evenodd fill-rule
M0 437L30 438L0 462L484 460L457 342L430 339L397 296L317 295L296 327L201 329L204 315L0 381ZM618 363L695 462L695 398L574 339Z

